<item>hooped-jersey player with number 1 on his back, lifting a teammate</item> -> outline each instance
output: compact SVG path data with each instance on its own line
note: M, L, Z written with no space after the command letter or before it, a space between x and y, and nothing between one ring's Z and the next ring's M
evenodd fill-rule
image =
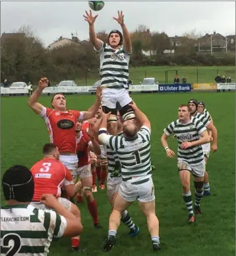
M150 161L150 121L136 105L133 106L135 116L142 124L140 130L135 120L123 122L123 136L107 134L107 118L109 114L102 114L98 139L102 144L115 150L121 162L122 182L113 204L109 217L109 232L104 251L110 251L115 245L117 229L121 222L121 215L135 200L138 200L142 212L145 214L148 230L152 237L154 251L159 251L159 221L156 216L155 192L152 181L152 168Z

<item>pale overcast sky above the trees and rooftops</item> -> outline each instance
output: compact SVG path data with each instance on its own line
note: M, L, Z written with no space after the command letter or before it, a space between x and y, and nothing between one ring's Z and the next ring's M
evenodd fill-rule
M1 1L1 33L14 32L26 24L42 39L45 46L59 36L71 38L76 31L78 38L88 38L88 23L84 11L89 10L88 1ZM110 32L119 24L112 17L122 10L125 24L130 31L138 24L150 30L166 32L168 36L183 34L196 29L202 34L214 31L227 36L235 34L235 2L151 2L151 1L105 1L105 7L97 13L96 31Z

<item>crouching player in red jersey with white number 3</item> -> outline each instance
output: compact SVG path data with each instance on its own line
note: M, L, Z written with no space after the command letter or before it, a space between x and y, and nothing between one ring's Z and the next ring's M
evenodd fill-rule
M59 150L55 144L45 144L43 148L44 159L35 163L30 171L34 177L34 196L32 198L32 206L45 209L45 204L40 202L43 194L53 194L61 205L69 210L76 218L80 219L80 211L76 205L66 198L61 198L61 187L65 188L68 196L73 196L77 192L74 185L73 177L59 161ZM71 239L73 250L79 247L79 236Z

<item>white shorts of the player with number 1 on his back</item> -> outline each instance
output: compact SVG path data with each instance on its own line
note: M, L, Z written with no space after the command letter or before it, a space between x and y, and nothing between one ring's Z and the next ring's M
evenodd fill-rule
M152 202L155 200L155 189L152 178L147 178L145 183L134 185L127 181L122 181L119 187L119 194L127 202Z

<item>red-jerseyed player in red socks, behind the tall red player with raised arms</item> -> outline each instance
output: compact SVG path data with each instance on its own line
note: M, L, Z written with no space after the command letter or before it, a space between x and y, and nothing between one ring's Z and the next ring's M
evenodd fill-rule
M76 176L82 183L82 194L86 197L88 210L94 220L94 227L101 228L98 221L98 207L94 196L92 195L92 173L89 163L88 151L92 150L100 154L100 146L94 138L92 130L82 130L82 123L76 122L76 140L77 140L77 155L78 169Z

